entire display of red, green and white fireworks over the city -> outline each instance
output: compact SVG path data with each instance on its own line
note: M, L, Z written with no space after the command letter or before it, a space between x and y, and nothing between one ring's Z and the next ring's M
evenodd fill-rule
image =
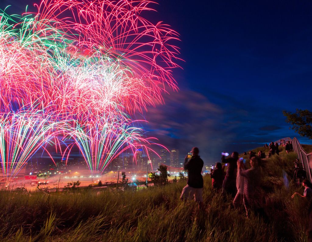
M16 175L51 135L73 140L91 173L125 149L150 149L154 142L130 116L177 89L179 61L178 34L142 17L151 3L50 0L22 16L0 14L5 176Z

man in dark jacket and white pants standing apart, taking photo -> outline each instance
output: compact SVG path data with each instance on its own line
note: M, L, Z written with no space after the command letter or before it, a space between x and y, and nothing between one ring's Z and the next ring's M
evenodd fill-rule
M198 155L199 149L197 147L193 147L190 153L192 153L192 157L189 159L186 156L184 159L184 169L188 171L188 181L187 185L183 187L180 199L185 200L194 197L195 201L198 202L199 209L203 209L204 180L202 179L202 167L204 162Z

